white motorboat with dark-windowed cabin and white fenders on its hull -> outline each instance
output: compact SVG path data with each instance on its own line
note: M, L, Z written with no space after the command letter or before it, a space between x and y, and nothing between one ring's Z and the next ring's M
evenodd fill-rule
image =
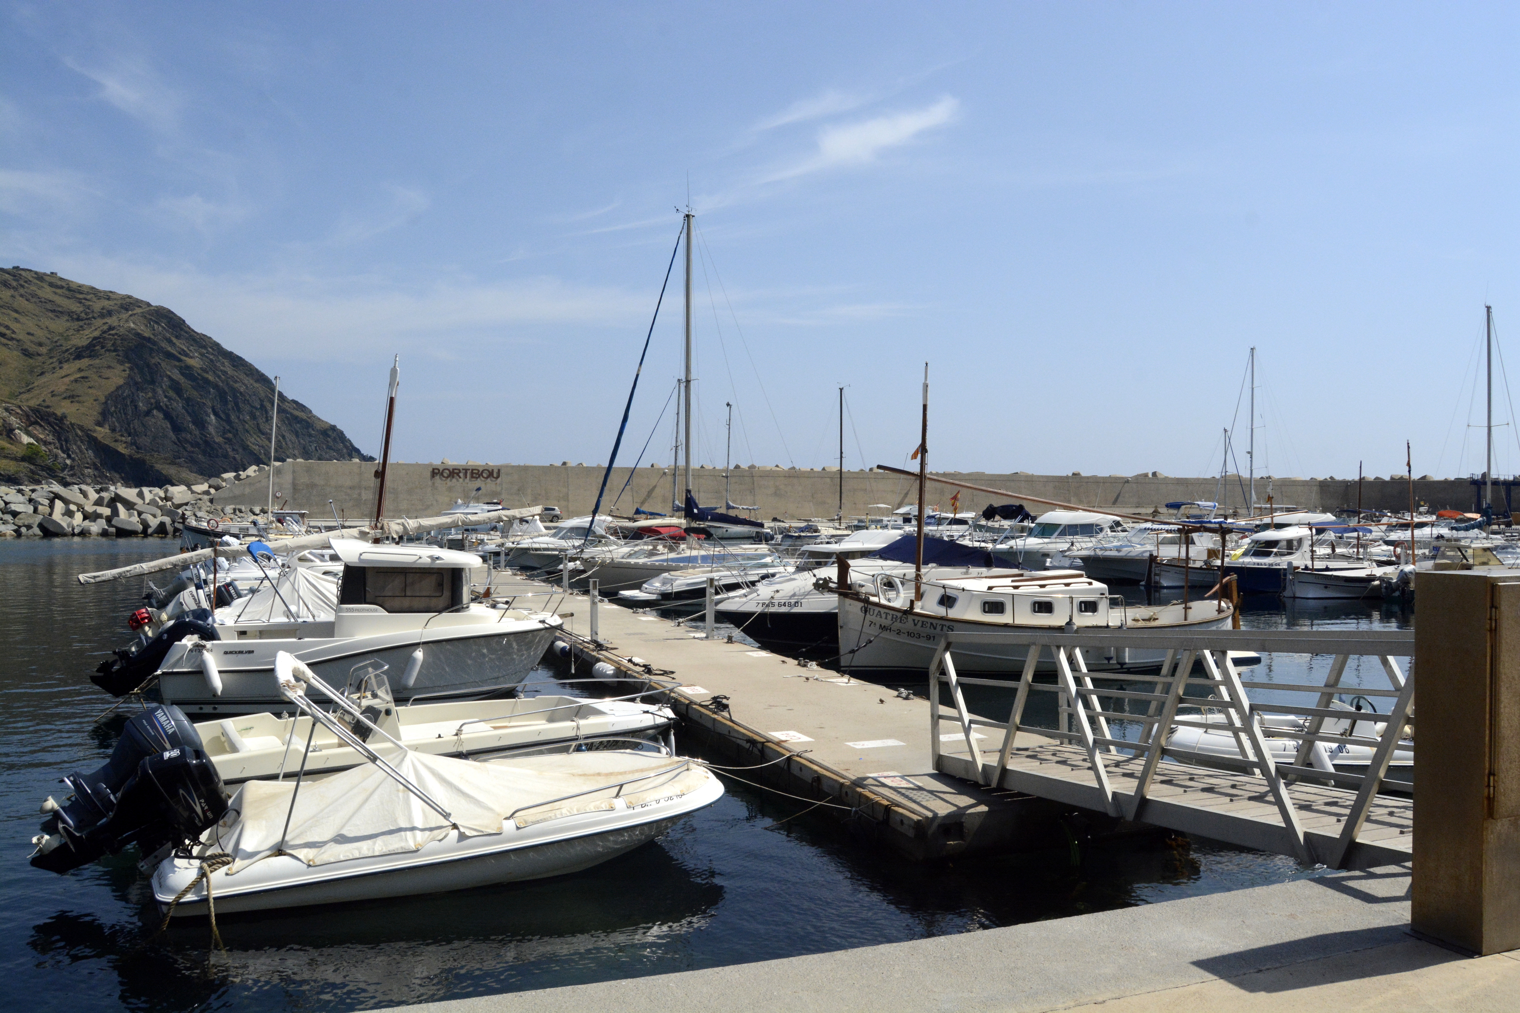
M330 545L344 563L330 620L237 621L233 603L217 612L214 638L169 647L158 699L208 717L278 711L280 652L337 682L354 664L380 661L401 673L394 686L403 702L479 697L515 688L562 626L546 612L471 601L470 573L480 565L471 553L353 538Z

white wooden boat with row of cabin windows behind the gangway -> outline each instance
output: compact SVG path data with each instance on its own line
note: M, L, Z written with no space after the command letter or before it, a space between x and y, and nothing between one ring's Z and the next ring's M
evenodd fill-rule
M856 671L927 670L945 635L1076 630L1173 630L1204 632L1231 626L1230 601L1173 601L1128 604L1123 597L1075 570L1047 570L986 577L944 577L924 582L923 600L914 606L914 579L877 574L871 591L839 594L841 668ZM965 673L1017 674L1023 671L1026 644L956 645L956 668ZM1135 671L1157 668L1164 650L1082 649L1088 671ZM1256 655L1240 655L1236 664L1256 664ZM1049 652L1041 653L1040 671L1053 670Z

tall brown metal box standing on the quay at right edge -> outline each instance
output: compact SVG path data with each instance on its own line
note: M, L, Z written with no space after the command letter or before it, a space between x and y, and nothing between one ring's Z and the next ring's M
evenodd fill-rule
M1423 571L1415 621L1415 933L1520 949L1520 570Z

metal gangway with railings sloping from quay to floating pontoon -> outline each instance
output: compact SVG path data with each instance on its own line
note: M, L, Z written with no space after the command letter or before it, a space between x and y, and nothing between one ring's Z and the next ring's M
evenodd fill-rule
M1404 863L1412 855L1414 802L1388 794L1385 776L1395 750L1414 749L1414 671L1411 665L1406 673L1397 661L1412 658L1414 644L1412 630L950 633L929 667L933 764L941 773L986 787L1292 855L1304 864L1368 869ZM956 673L958 652L965 658L991 645L997 645L996 653L1009 645L1024 650L1017 682ZM1088 670L1090 658L1111 661L1148 650L1163 656L1151 671ZM1327 655L1332 662L1324 683L1262 682L1243 679L1231 652ZM1377 658L1386 688L1341 685L1348 661L1357 656ZM1052 668L1055 682L1035 680L1037 671ZM1017 690L1008 720L971 714L964 686ZM941 702L944 690L950 706ZM1252 702L1246 690L1274 690L1294 702ZM1058 727L1035 727L1024 720L1034 693L1056 696ZM1388 714L1332 709L1341 693L1385 697L1392 706ZM1126 711L1105 708L1114 700ZM1222 720L1208 721L1202 712L1183 709L1193 706L1218 711ZM1266 726L1263 715L1300 720L1280 718ZM1348 717L1354 718L1348 732L1370 720L1382 723L1383 731L1376 738L1325 732L1325 721ZM1138 724L1138 737L1116 738L1110 721ZM944 724L961 734L942 740ZM1228 732L1239 753L1173 749L1167 740L1178 727ZM979 735L979 729L1002 732L1002 746L985 750L979 740L994 740ZM1269 737L1298 741L1292 762L1272 756ZM1370 747L1366 773L1310 765L1316 743ZM1196 765L1204 762L1208 767Z

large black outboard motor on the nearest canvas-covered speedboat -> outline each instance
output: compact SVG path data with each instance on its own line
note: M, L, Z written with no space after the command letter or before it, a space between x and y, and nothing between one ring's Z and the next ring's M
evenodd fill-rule
M173 705L135 714L111 759L64 784L73 797L43 803L47 819L32 838L32 864L70 872L137 844L144 858L185 844L226 813L226 791L201 735Z

